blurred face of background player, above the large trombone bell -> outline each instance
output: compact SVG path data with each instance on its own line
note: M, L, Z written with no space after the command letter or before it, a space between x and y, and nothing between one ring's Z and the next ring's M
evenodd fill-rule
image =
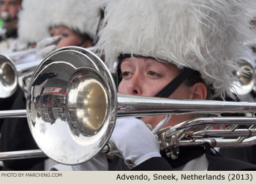
M50 28L50 37L56 37L61 35L62 38L57 44L57 48L67 47L67 46L80 46L80 47L91 47L92 45L86 45L88 41L84 42L83 45L80 43L83 41L83 37L80 36L75 31L70 30L65 26L57 26Z

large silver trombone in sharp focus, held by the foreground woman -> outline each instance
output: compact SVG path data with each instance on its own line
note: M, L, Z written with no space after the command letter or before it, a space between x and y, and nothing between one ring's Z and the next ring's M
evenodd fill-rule
M108 68L97 55L80 47L64 47L37 66L31 78L26 110L5 111L0 117L27 115L31 134L46 156L62 164L81 164L100 151L114 151L108 140L116 118L187 113L220 115L222 112L251 113L252 117L196 118L162 129L157 133L161 147L170 150L172 158L177 156L178 146L206 142L213 147L255 145L256 103L119 94ZM252 126L236 129L241 124ZM222 125L226 129L220 129L219 133L212 129ZM224 133L235 138L216 138L225 137ZM42 152L1 153L1 158L42 156Z

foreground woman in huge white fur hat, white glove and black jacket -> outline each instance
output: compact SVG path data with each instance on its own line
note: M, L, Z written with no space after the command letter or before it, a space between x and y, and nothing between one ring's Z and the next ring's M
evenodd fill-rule
M246 8L253 1L108 1L97 47L110 69L119 71L118 92L173 99L235 98L233 71L249 39ZM248 30L246 29L248 28ZM160 152L154 127L163 116L116 121L110 142L123 158L109 170L255 170L225 158L209 145L180 147L178 158ZM195 115L173 115L173 126ZM97 159L97 157L93 158ZM90 162L90 161L89 161ZM72 169L86 170L88 162ZM105 169L99 166L98 168Z

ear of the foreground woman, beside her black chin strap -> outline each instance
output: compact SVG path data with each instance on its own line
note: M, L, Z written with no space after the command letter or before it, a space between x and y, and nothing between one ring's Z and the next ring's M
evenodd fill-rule
M207 88L204 83L195 83L189 90L189 99L205 100L207 96Z

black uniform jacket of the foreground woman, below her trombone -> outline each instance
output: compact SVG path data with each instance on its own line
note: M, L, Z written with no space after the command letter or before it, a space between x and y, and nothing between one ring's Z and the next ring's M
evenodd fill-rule
M186 164L198 156L206 153L208 158L208 171L241 171L256 170L255 164L249 164L244 161L227 158L222 156L210 145L200 147L180 147L180 154L173 160L162 153L162 157L150 158L142 164L135 166L134 171L171 171L176 167ZM115 158L109 163L109 170L129 170L121 158Z

